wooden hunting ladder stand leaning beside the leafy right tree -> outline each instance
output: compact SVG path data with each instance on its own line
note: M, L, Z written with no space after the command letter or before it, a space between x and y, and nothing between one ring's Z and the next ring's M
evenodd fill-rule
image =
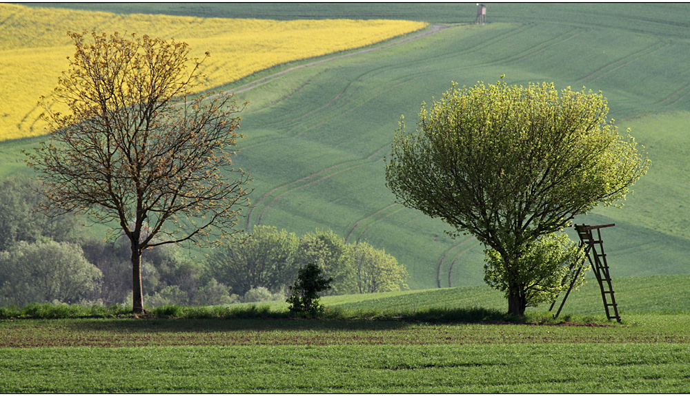
M601 234L602 228L613 227L614 225L615 224L575 225L575 231L578 231L578 236L580 237L580 247L585 247L584 255L587 257L587 259L589 259L589 264L591 264L592 269L594 271L594 275L597 278L597 282L599 282L599 286L602 291L602 299L604 300L604 309L606 309L606 316L609 320L615 318L615 320L618 323L620 323L620 315L618 315L618 306L615 304L615 298L613 297L613 287L611 286L609 264L607 264L606 262L606 254L604 253L604 242L602 241ZM597 239L594 239L594 236L592 235L592 230L594 229L597 230ZM597 248L596 245L599 245L599 247ZM571 264L570 272L573 271L575 264L578 263L573 262L573 264ZM556 312L555 315L553 315L554 319L558 317L558 314L560 314L561 309L563 309L563 304L565 304L565 300L568 298L568 295L573 289L573 286L575 285L575 280L578 279L580 271L582 271L582 269L584 268L584 258L582 258L582 261L579 264L580 265L578 266L578 269L571 280L570 287L568 288L568 291L565 293L563 301L561 302L560 307L558 308L558 312ZM556 296L556 299L558 299L558 296ZM551 303L551 308L549 308L549 311L553 309L555 303L556 300L553 300L553 303ZM613 315L611 314L611 308L613 308Z

